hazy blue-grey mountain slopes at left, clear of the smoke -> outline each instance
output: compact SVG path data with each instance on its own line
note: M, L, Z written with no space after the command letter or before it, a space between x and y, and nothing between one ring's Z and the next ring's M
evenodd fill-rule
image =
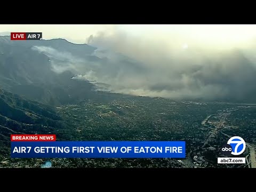
M65 39L10 41L8 36L0 37L0 87L52 106L93 97L93 84L70 79L75 74L69 70L55 73L51 59L44 52L33 49L38 45L79 57L90 55L95 50L92 46L75 45Z

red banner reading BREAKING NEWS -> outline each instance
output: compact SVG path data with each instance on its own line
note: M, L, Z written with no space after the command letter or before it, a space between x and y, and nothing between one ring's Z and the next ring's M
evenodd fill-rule
M11 134L11 141L56 141L55 134Z

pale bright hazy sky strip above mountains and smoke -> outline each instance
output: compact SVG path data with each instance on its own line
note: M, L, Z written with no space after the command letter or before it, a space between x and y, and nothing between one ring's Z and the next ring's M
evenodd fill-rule
M42 31L44 39L66 38L74 43L87 43L87 37L100 32L123 33L177 48L247 46L256 37L256 25L0 25L0 32L5 31Z

